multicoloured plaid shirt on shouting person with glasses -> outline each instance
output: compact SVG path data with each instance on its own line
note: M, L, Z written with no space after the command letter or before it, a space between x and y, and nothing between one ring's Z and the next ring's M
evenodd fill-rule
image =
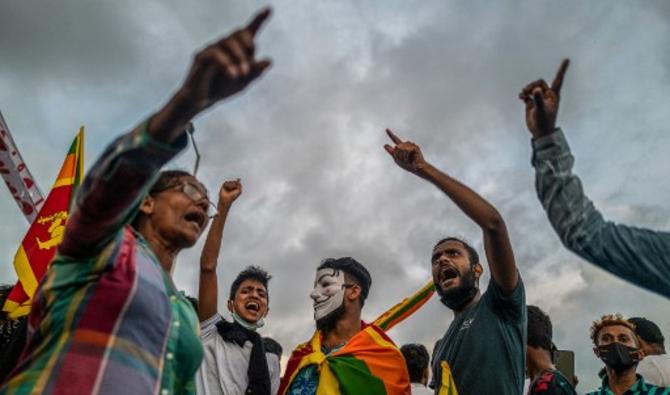
M147 124L118 138L89 171L35 295L28 344L0 394L195 392L203 354L195 311L127 226L187 142L184 134L160 144Z

